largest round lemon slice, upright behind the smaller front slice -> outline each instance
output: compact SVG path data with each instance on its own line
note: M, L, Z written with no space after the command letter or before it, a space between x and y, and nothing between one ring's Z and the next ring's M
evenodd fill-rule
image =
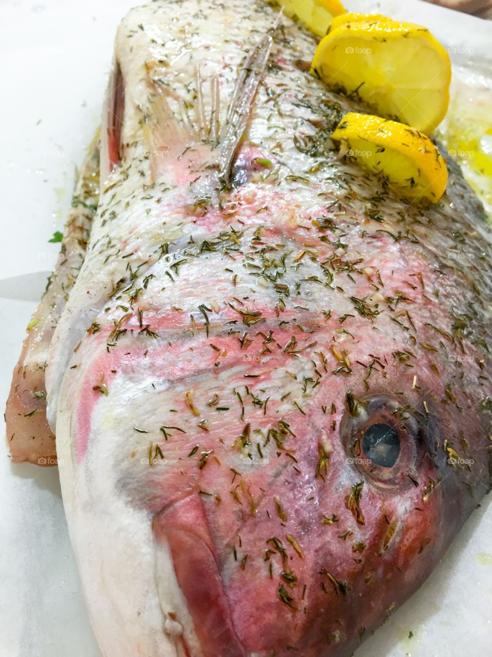
M350 15L350 14L348 14ZM451 62L426 28L379 16L335 19L318 45L312 72L381 116L430 134L449 104Z

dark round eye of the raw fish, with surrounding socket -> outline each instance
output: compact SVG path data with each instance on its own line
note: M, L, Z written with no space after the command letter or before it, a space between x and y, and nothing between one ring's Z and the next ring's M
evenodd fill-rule
M423 437L419 418L400 399L348 394L340 422L347 463L375 486L402 487L417 480Z

